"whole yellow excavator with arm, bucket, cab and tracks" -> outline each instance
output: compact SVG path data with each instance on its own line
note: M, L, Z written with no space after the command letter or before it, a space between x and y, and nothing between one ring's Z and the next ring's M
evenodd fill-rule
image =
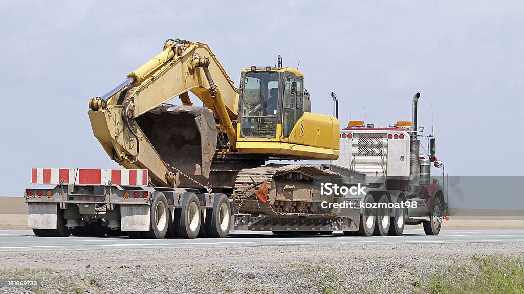
M311 165L264 165L336 160L337 118L311 112L304 75L283 67L280 56L275 67L246 67L240 80L236 87L206 44L168 39L124 83L90 99L93 133L118 164L147 169L154 187L236 194L246 213L332 212L320 208L312 185L337 175ZM269 183L264 205L244 195L262 182Z

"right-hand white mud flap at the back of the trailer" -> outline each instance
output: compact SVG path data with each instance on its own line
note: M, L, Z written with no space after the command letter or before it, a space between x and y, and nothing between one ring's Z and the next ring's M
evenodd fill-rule
M120 205L120 226L122 231L149 231L149 205Z

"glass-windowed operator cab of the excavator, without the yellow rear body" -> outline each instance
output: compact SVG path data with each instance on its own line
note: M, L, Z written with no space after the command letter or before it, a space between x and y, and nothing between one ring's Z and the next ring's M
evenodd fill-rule
M292 69L250 67L241 76L240 138L288 138L304 114L304 77Z

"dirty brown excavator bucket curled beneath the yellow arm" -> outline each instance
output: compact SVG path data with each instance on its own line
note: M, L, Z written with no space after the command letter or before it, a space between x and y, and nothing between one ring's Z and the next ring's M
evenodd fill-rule
M161 159L188 175L209 177L216 123L205 106L159 106L136 118Z

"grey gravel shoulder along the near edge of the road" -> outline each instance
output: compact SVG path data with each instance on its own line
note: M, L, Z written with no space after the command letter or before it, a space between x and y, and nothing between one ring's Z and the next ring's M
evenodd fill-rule
M466 257L518 257L520 243L286 245L0 252L1 293L423 293Z

